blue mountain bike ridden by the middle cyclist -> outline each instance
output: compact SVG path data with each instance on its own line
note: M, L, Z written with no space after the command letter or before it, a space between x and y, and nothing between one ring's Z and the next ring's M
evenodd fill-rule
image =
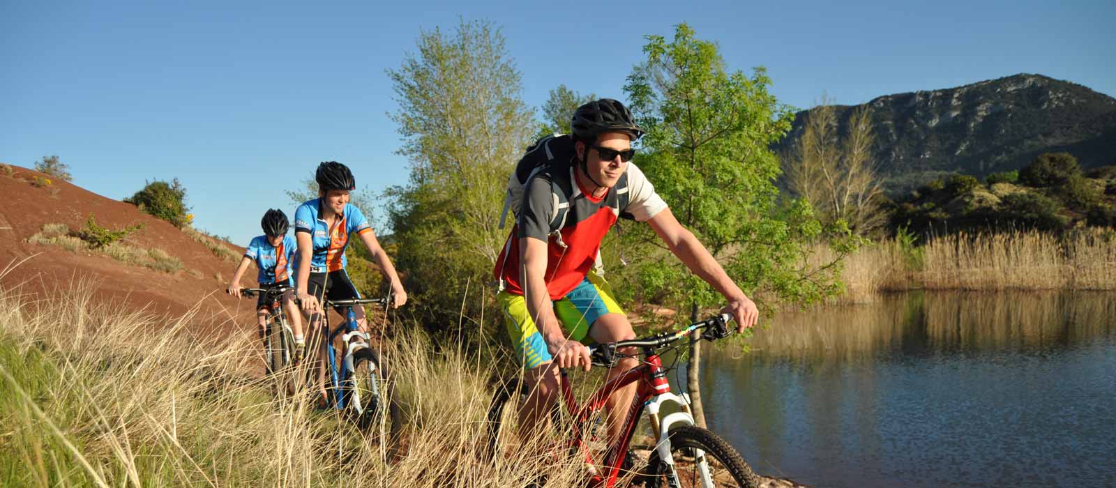
M360 332L353 306L377 303L385 309L392 296L384 299L326 300L324 309L344 309L345 321L336 329L329 326L329 314L323 313L321 336L326 338L325 353L328 370L326 392L329 406L346 411L362 429L383 420L396 437L402 428L398 404L387 394L387 371L379 354L369 344L367 332ZM340 339L338 350L334 344ZM386 417L385 417L386 413Z

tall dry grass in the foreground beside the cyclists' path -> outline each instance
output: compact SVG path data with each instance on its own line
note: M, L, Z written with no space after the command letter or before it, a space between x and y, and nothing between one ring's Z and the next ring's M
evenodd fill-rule
M2 280L2 275L0 275ZM273 394L254 331L122 312L93 286L0 287L0 486L569 486L584 467L540 447L485 448L492 367L417 333L385 351L405 456Z

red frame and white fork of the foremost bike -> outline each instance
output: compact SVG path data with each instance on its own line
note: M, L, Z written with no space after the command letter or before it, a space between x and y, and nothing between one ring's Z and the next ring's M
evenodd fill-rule
M606 472L600 474L593 469L593 457L585 439L583 439L583 432L575 430L575 437L570 440L570 447L579 449L585 457L586 465L590 467L590 486L612 487L616 485L620 475L620 463L624 461L623 456L627 453L628 443L632 441L632 435L635 432L639 414L643 413L644 409L646 409L647 416L651 419L652 430L657 436L655 439L655 449L660 451L660 459L666 460L666 462L673 462L670 456L671 445L667 438L670 428L675 424L694 423L693 413L690 410L690 397L685 393L680 396L671 391L671 384L666 379L666 370L663 369L663 362L658 354L655 354L652 349L644 349L642 355L645 357L644 364L632 368L606 382L589 396L585 404L580 407L574 400L574 393L570 389L566 371L561 372L562 401L566 404L567 411L576 419L576 426L586 424L589 421L589 416L604 408L605 402L614 391L638 382L635 399L632 406L628 407L627 416L620 430L620 437L615 445L609 447L604 459L604 466L607 468ZM658 413L662 407L670 402L676 403L682 410L660 419Z

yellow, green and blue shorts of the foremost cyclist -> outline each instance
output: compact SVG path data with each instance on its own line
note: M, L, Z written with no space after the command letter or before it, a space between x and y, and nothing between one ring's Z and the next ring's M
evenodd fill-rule
M496 300L503 311L504 325L523 368L532 369L549 362L550 352L547 351L542 334L527 311L527 300L523 295L502 291L497 294ZM600 315L624 313L616 303L608 282L591 271L577 287L551 304L566 335L570 340L581 342L588 340L589 328Z

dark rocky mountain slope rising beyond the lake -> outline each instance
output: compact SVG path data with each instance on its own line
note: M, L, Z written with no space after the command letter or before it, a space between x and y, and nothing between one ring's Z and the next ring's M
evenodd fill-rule
M893 194L943 173L1019 169L1041 153L1068 152L1085 168L1116 164L1116 99L1041 75L836 106L838 134L847 131L853 110L863 106L873 110L873 154ZM797 141L809 113L796 114L778 149Z

